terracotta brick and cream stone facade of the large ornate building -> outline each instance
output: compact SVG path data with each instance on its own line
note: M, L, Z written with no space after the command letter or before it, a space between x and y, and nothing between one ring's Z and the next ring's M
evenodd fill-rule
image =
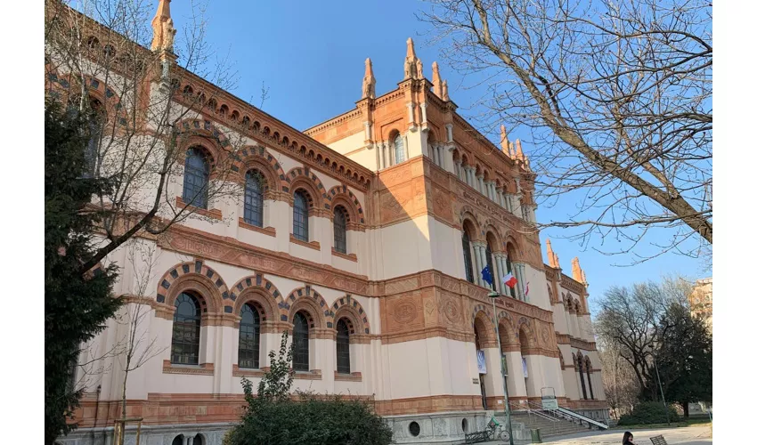
M160 2L157 20L170 17L168 4ZM167 35L158 28L156 51ZM181 435L183 443L199 437L219 444L242 412L241 378L256 384L267 352L299 316L308 354L295 387L373 401L402 430L401 441L459 440L457 422L478 425L484 409L501 410L501 354L513 409L541 401L548 388L561 406L606 417L586 276L577 259L571 276L564 274L549 244L543 263L533 173L521 143L509 142L504 128L499 147L489 142L456 113L438 66L434 83L421 71L409 40L405 78L377 95L366 61L356 107L304 132L223 91L213 109L177 125L192 134L183 139L186 148L205 150L213 166L230 166L241 177L253 168L262 174L265 206L263 223L253 224L243 217L244 199L213 201L201 218L177 223L165 236L142 237L150 258L134 260L126 248L109 257L122 268L115 292L128 304L85 351L97 356L118 345L130 308L149 314L140 334L154 339L158 352L129 373L126 387L127 415L144 419L149 443ZM66 72L46 78L48 91L69 88ZM191 73L181 79L175 101L183 107L191 107L183 92L211 87ZM94 92L104 85L91 82ZM243 149L225 162L230 141ZM308 197L307 239L293 229L299 190ZM186 205L181 178L167 194ZM344 251L335 245L337 208L346 214ZM140 293L138 276L148 263L154 272ZM496 313L487 296L492 289L481 279L487 264L505 294L496 299ZM512 290L501 284L508 273L518 280ZM199 308L193 364L173 360L182 295ZM256 368L240 366L246 307L258 317ZM348 359L342 352L349 373L337 367L340 321L349 336ZM485 374L476 350L484 351ZM102 372L80 371L79 428L61 443L102 443L110 434L121 415L120 363L104 355L87 365ZM406 429L414 419L433 427L412 436Z

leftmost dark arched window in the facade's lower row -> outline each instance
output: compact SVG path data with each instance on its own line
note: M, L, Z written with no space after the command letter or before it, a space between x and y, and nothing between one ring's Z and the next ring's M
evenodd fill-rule
M199 363L199 303L183 293L174 302L174 334L171 337L171 363Z

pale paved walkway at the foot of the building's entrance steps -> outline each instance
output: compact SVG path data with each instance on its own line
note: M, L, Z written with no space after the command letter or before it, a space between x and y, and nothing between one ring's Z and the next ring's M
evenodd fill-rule
M553 445L620 445L623 430L591 431L571 434L569 436L544 439L544 443ZM712 443L710 426L686 426L683 428L658 428L655 430L632 430L633 441L637 445L650 445L649 438L663 434L670 445L708 445ZM501 445L501 441L485 442Z

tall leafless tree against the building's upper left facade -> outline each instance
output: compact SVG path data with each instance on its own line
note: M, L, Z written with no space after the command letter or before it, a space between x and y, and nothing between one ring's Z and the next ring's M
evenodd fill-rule
M89 174L110 183L88 209L100 216L102 244L82 265L84 272L135 235L159 236L188 217L213 221L198 207L240 195L231 164L241 136L216 130L224 132L225 143L213 159L208 187L179 202L175 190L187 143L206 130L181 124L223 112L215 97L236 78L206 41L204 8L191 2L191 17L175 42L172 22L159 24L167 37L156 44L151 2L82 0L74 6L45 1L45 70L49 95L91 115ZM214 86L178 91L197 77Z

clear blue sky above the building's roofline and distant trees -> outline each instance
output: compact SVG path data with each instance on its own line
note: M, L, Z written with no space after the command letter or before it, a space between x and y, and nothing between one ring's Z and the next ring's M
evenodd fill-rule
M181 29L186 21L188 4L179 0L171 3L177 28ZM207 10L208 42L219 53L228 53L234 63L239 82L232 93L259 106L260 90L265 82L269 97L263 109L304 130L354 108L354 102L360 99L366 57L373 61L376 93L394 89L403 78L405 40L411 36L416 53L423 61L425 76L431 78L431 63L438 61L442 77L449 83L451 99L459 106L458 112L473 116L476 109L471 106L480 99L481 91L468 89L467 86L473 84L472 79L453 72L442 60L439 48L427 44L427 25L414 15L425 7L426 4L411 0L213 0ZM516 131L509 138L514 140L520 136ZM522 137L528 139L526 134ZM497 142L498 135L492 140ZM527 145L524 150L528 152ZM537 217L540 221L565 219L573 207L574 203L561 199L551 208L540 207ZM544 239L551 239L563 271L568 274L571 258L579 256L590 282L590 304L613 285L627 286L635 281L659 279L666 273L680 273L692 279L712 275L712 267L705 266L702 259L674 254L619 267L614 264L629 264L631 258L606 256L595 249L614 250L623 247L623 243L607 240L600 246L595 237L588 246L581 246L559 238L574 233L576 231L552 228L542 231L541 242L543 246ZM642 255L650 255L655 247L650 246L649 241L664 242L669 236L669 232L655 231L637 249Z

